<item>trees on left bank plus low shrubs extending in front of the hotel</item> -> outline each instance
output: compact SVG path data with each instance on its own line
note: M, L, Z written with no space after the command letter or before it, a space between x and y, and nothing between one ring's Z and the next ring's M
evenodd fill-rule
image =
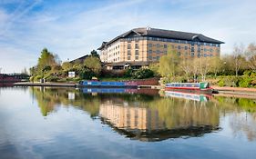
M76 77L68 77L68 72L75 72ZM83 60L60 63L57 55L45 48L38 58L37 65L30 68L31 81L46 79L47 82L77 82L79 80L97 78L103 81L126 81L130 79L144 79L154 77L154 72L148 68L138 70L107 70L102 67L99 55L93 50Z

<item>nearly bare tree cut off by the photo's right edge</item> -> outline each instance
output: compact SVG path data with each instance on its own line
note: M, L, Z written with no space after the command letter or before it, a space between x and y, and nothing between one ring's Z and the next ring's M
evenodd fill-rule
M256 72L256 45L250 44L246 50L248 66Z

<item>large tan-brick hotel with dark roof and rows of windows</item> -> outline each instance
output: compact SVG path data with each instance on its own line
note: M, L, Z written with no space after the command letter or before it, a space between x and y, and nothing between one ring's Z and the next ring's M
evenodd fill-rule
M102 62L120 68L118 64L157 62L171 51L183 59L220 56L220 44L223 42L201 34L144 27L103 42L98 50Z

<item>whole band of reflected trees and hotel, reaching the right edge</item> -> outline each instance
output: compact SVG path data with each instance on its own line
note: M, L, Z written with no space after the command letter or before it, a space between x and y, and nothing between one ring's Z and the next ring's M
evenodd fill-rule
M230 114L233 135L244 132L249 140L256 139L256 106L255 101L249 99L214 97L209 100L207 96L196 95L196 100L190 100L182 97L186 94L159 95L158 90L147 89L31 87L30 91L43 116L57 113L60 106L72 106L92 118L99 116L103 124L131 139L160 141L200 136L219 130L220 116Z

